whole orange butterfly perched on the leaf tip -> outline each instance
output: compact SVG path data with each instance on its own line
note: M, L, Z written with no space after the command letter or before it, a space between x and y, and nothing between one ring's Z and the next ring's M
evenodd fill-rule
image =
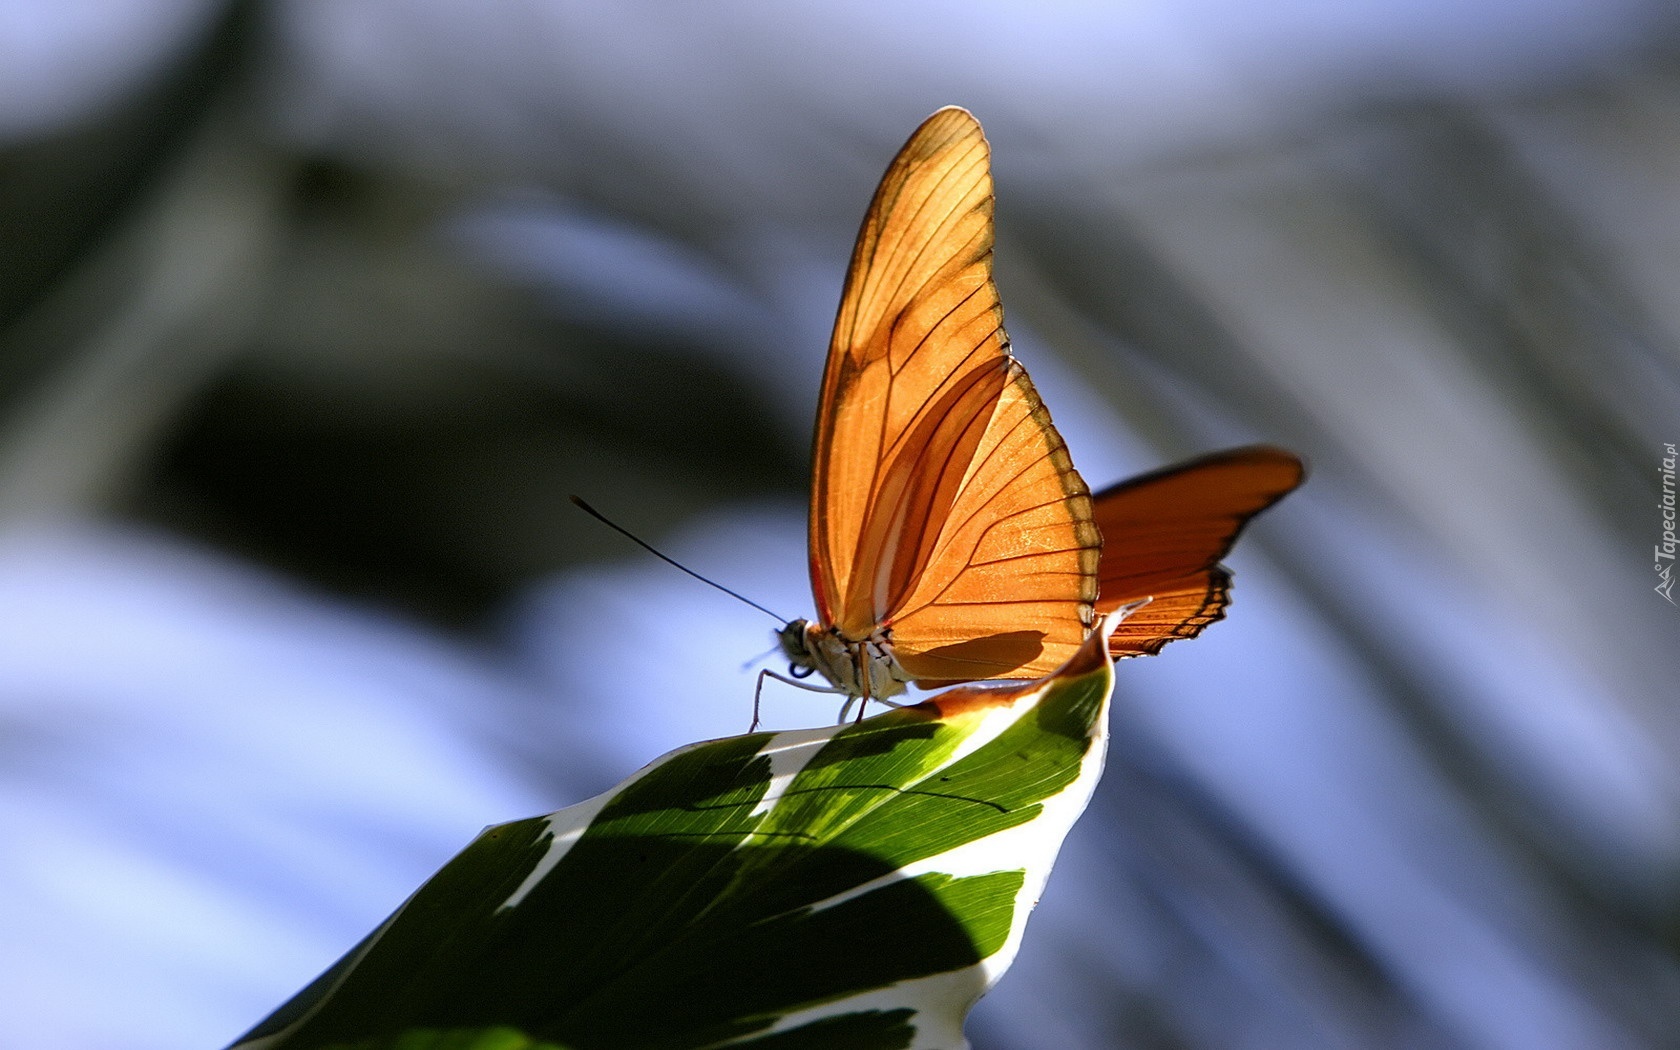
M909 682L1047 675L1129 603L1147 600L1114 655L1194 635L1223 615L1243 522L1300 480L1287 452L1245 449L1094 506L1010 356L991 220L986 138L948 108L887 168L852 252L816 412L816 620L776 635L795 677L847 696L842 719Z

